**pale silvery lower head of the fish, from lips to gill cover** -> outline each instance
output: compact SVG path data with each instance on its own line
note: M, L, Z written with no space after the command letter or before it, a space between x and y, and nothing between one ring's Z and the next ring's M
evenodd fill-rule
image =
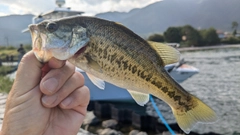
M86 31L82 28L73 30L69 33L69 37L66 40L55 38L54 36L48 37L47 32L41 31L41 28L36 24L30 25L29 29L32 36L34 54L43 63L49 61L52 57L59 60L67 60L83 51L84 49L82 48L85 48L89 41L85 34Z

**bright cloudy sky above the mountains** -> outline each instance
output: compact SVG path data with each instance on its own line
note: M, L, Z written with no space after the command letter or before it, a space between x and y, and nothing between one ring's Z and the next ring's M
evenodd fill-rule
M108 11L128 12L160 0L66 0L65 7L83 11L84 15L95 15ZM0 0L0 16L10 14L34 14L52 10L55 0Z

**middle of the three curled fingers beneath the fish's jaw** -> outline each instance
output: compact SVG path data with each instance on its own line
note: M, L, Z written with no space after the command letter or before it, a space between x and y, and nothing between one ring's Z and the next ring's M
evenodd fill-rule
M84 85L84 77L81 73L75 72L66 83L55 94L47 96L44 95L42 103L45 107L55 107L74 90Z

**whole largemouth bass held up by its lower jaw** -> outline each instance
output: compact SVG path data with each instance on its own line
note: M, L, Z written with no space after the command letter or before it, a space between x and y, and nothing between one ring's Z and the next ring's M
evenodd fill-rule
M68 60L104 89L104 81L126 89L144 106L149 94L172 109L179 127L190 133L198 123L213 123L213 109L187 92L164 69L180 53L166 44L146 41L124 25L95 17L74 16L29 26L37 59Z

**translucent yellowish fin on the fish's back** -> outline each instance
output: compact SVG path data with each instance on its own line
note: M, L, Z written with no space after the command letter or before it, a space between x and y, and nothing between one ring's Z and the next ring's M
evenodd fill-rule
M180 60L180 52L175 48L158 42L148 41L148 44L156 50L165 65L176 63ZM165 66L164 65L164 66Z

